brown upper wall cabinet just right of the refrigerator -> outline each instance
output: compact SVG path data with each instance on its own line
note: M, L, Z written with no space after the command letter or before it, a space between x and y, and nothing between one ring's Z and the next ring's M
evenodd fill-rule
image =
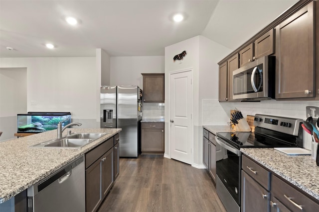
M142 73L143 101L164 102L164 73Z

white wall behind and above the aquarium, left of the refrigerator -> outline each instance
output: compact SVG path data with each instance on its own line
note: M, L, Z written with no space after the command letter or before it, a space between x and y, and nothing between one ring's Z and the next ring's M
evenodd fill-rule
M27 111L71 112L81 127L97 127L95 57L0 58L0 68L18 67L27 69Z

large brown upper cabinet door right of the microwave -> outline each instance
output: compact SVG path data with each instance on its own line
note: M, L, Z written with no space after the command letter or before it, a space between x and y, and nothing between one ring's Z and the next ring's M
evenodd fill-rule
M276 99L316 95L314 4L276 27Z

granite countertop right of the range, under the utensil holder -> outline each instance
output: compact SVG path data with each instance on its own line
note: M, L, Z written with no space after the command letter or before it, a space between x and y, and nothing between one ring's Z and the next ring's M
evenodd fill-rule
M319 200L319 166L311 155L287 155L274 148L241 148L240 151Z

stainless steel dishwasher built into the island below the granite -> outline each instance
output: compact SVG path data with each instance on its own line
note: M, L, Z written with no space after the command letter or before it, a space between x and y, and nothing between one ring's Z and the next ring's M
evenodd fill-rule
M28 212L85 212L84 155L27 189Z

